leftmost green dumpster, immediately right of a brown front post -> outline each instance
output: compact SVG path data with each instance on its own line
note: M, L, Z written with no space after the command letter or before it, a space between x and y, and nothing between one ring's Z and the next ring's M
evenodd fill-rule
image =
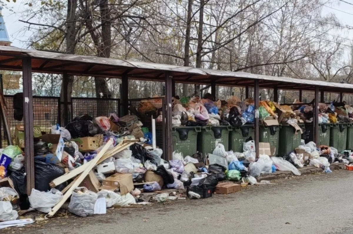
M178 150L184 157L197 152L197 135L201 127L174 127L172 129L173 151Z

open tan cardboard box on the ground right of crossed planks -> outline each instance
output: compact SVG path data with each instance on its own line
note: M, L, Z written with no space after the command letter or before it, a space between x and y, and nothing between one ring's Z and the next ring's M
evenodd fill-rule
M119 188L121 195L125 195L134 189L132 174L115 173L114 175L104 179L102 181L102 185L112 188Z

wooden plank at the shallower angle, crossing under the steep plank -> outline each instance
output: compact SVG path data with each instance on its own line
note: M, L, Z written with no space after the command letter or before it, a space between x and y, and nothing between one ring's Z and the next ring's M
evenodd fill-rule
M122 145L118 145L116 146L114 149L110 150L109 152L105 153L103 155L103 157L97 162L97 164L100 164L101 162L103 162L104 160L110 158L111 156L113 156L114 154L116 153L119 153L121 152L122 150L126 149L127 147L131 146L134 142L127 142L127 143L123 143ZM92 160L93 161L93 160ZM50 182L50 187L54 188L56 186L58 186L59 184L62 184L64 183L65 181L75 177L75 176L78 176L80 173L82 173L86 168L90 167L92 165L92 161L89 161L88 163L78 167L78 168L75 168L74 170L70 171L69 173L67 174L64 174L58 178L56 178L55 180L53 180L52 182ZM96 166L95 165L92 165L92 167Z

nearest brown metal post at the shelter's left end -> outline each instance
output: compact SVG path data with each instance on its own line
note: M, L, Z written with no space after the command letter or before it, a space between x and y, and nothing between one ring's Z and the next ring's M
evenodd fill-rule
M28 196L34 189L34 134L33 134L33 97L32 97L32 61L30 57L22 59L23 76L23 124L24 154L26 169L26 187ZM65 90L65 89L64 89Z

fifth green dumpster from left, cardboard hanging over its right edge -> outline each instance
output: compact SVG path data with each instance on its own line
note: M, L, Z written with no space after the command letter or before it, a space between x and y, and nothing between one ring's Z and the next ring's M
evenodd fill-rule
M301 129L304 128L304 123L298 124ZM280 129L280 140L278 154L280 156L287 155L300 146L301 144L301 133L300 130L296 130L293 126L285 123L282 124Z

